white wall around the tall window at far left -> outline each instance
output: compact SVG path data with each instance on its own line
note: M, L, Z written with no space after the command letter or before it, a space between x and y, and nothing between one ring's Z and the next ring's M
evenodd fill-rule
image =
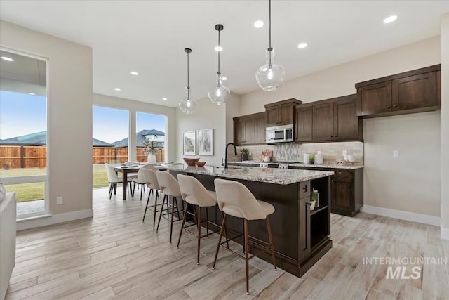
M1 46L49 60L50 213L68 219L92 216L92 49L0 22ZM56 204L58 196L63 204Z

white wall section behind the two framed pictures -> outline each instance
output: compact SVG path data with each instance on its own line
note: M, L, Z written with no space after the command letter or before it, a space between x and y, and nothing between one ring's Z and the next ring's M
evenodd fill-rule
M235 96L232 97L235 101ZM227 104L226 104L227 105ZM196 112L185 115L179 108L176 109L176 132L177 148L176 162L184 162L183 157L200 157L201 162L206 165L220 165L225 157L226 145L226 105L215 105L209 98L198 100ZM185 156L182 153L182 133L197 131L200 129L213 129L213 155L212 156Z

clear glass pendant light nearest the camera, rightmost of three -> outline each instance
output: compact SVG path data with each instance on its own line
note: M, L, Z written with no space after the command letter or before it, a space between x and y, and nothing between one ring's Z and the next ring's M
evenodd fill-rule
M272 1L269 0L269 47L267 48L267 63L255 71L257 84L264 91L274 91L286 76L282 65L275 65L272 48Z

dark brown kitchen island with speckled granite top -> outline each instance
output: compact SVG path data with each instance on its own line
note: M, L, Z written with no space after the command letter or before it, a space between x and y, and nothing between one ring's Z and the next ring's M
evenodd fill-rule
M208 190L215 190L215 178L239 181L257 199L271 203L276 209L270 216L276 263L293 275L301 277L332 247L329 237L331 171L184 165L167 165L161 169L168 169L174 176L194 176ZM311 190L319 192L319 204L313 210L310 209ZM208 209L208 218L218 225L222 222L217 207ZM229 235L241 233L241 220L229 217L227 230ZM268 240L264 220L251 221L249 231L257 239ZM241 243L241 240L236 242ZM250 252L258 252L258 249L257 244L250 244ZM262 253L260 257L271 263L269 253Z

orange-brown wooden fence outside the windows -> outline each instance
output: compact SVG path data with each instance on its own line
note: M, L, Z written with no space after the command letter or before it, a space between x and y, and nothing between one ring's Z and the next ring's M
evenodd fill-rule
M138 162L147 162L142 147L138 147ZM110 162L123 163L128 161L128 147L93 147L92 163L106 164ZM165 161L165 149L156 152L156 162ZM3 169L44 168L47 164L46 146L12 146L0 145L0 167Z

